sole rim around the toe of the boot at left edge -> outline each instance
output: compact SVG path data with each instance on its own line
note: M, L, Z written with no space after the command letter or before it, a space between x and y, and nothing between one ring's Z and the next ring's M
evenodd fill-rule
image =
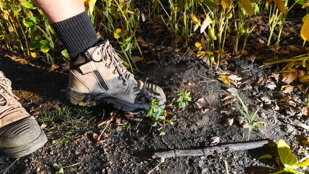
M35 140L29 142L28 144L25 144L23 146L19 147L2 147L0 151L2 151L3 154L5 154L8 157L11 158L19 158L26 156L28 154L31 154L32 152L35 152L36 150L40 149L44 144L47 142L47 137L44 133L44 131L41 129L41 133L39 137L37 137ZM15 150L22 148L21 150ZM14 150L13 150L14 149Z

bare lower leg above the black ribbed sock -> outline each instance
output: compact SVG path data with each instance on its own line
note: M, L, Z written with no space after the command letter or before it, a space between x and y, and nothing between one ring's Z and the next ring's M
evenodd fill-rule
M49 22L60 22L85 11L83 0L33 0Z

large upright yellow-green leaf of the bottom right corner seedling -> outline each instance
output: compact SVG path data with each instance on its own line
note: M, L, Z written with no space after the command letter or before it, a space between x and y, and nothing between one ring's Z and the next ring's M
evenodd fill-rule
M295 155L291 152L290 146L287 145L284 140L279 140L277 149L280 156L280 161L284 167L292 167L295 163L298 163Z

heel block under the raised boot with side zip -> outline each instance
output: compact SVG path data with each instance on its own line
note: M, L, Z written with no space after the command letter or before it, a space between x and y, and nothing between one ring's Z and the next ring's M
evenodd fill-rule
M68 87L66 90L66 96L70 102L79 106L95 106L95 98L91 94L81 93L73 88Z

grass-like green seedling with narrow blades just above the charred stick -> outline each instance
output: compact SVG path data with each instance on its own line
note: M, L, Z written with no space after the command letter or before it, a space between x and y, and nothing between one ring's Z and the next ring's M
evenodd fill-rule
M249 130L248 130L248 139L247 140L250 139L251 132L252 132L252 130L254 128L257 128L260 131L260 133L263 136L265 136L265 134L263 133L262 129L258 126L258 124L264 124L264 126L266 126L266 123L264 123L262 121L257 121L257 122L254 121L254 119L255 119L255 117L257 115L257 112L259 111L260 107L258 106L256 111L254 111L254 109L253 109L252 114L250 115L249 112L248 112L247 103L244 103L243 100L239 97L239 95L235 91L233 91L233 92L236 94L236 96L239 99L241 105L243 106L243 110L238 107L239 111L248 120Z

